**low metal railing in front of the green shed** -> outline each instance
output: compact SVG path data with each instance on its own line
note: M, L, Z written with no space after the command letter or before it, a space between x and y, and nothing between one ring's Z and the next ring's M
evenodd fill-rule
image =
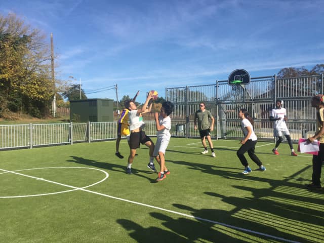
M155 121L145 121L145 132L156 136ZM117 138L117 122L0 125L0 150L33 148Z

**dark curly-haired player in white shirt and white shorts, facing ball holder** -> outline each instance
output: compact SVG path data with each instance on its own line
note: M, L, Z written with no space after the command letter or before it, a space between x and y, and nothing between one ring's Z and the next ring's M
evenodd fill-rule
M157 181L164 180L170 171L166 167L165 153L169 145L171 134L171 118L170 114L173 111L173 104L169 101L163 102L161 111L158 114L155 112L155 126L156 126L156 144L154 147L153 156L155 156L158 164L160 165L160 172L158 173Z

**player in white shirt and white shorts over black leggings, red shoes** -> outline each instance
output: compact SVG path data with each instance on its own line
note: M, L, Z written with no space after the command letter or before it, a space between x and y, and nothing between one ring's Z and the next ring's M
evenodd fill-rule
M292 139L290 137L290 133L289 133L289 130L286 125L286 121L287 121L286 109L284 107L281 107L282 103L283 102L281 100L276 100L276 102L275 102L276 107L274 109L272 109L270 112L270 120L273 121L274 136L278 138L277 142L275 143L275 147L272 149L272 152L275 155L279 155L279 152L277 149L279 147L279 144L283 140L282 135L285 135L285 137L287 138L289 147L292 151L291 155L297 156L297 154L294 151Z

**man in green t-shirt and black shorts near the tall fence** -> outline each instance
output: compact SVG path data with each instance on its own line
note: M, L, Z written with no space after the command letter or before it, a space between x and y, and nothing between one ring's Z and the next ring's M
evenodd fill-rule
M211 131L214 130L214 117L212 116L209 110L206 110L206 104L201 102L199 104L199 110L197 110L194 114L194 129L197 130L197 120L198 120L198 129L201 138L201 143L203 143L204 151L201 152L203 154L208 153L207 145L206 145L206 137L209 143L209 146L212 150L212 157L216 157L214 152L214 146L211 139ZM209 118L212 120L212 126L209 126Z

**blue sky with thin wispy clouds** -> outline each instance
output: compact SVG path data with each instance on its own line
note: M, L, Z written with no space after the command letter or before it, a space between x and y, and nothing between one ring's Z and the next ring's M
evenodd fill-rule
M56 77L86 93L214 84L237 68L251 77L324 63L324 1L0 0L0 13L54 36ZM116 99L115 90L87 95Z

